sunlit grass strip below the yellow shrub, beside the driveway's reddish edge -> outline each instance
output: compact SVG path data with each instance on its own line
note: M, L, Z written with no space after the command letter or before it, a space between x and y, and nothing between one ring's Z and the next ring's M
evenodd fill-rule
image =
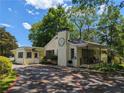
M0 80L0 93L4 93L15 79L16 73L13 71L9 76Z

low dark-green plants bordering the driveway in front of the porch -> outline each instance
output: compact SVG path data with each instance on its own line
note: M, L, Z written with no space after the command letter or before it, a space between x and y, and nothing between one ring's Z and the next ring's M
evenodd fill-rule
M101 63L94 66L94 69L103 72L114 72L114 71L122 70L124 69L124 67L120 64L115 64L115 63L114 64Z

